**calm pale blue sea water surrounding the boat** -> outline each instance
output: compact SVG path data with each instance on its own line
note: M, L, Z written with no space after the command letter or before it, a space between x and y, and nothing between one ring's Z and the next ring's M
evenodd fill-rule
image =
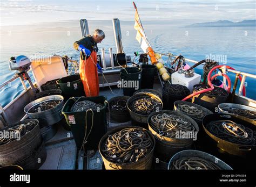
M122 24L122 42L126 54L133 57L133 52L142 50L135 39L136 31L133 23ZM68 55L73 60L79 60L79 53L73 49L73 42L82 37L80 28L38 27L31 31L16 31L3 28L1 31L0 84L14 76L9 70L10 56L26 55ZM89 25L90 26L90 25ZM102 28L106 38L99 48L112 47L116 51L112 24L95 24L90 29ZM219 57L221 63L226 63L237 70L256 74L256 30L255 27L203 27L186 28L170 25L144 25L147 38L156 52L171 52L182 54L188 59L203 60L206 56ZM190 64L192 65L192 64ZM201 73L202 69L197 68ZM228 74L234 79L234 74ZM256 99L255 81L247 78L247 97ZM0 103L5 106L23 91L19 80L12 82L0 90Z

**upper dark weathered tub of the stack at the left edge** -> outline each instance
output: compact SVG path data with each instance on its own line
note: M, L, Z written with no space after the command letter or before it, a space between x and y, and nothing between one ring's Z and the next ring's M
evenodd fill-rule
M19 161L24 160L26 157L32 155L35 150L42 144L43 139L42 135L40 134L37 119L26 119L23 121L19 121L14 125L4 128L4 130L22 123L27 123L28 121L36 121L37 125L29 133L21 136L21 139L19 141L13 140L0 146L1 166L16 164Z

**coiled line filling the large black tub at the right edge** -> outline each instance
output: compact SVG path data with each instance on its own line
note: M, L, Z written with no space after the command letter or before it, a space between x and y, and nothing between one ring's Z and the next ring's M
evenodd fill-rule
M218 138L242 145L256 145L256 131L231 120L217 120L206 124L206 129Z

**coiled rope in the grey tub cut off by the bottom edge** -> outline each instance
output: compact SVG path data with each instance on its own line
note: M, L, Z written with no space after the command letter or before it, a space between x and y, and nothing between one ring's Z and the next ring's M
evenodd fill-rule
M171 170L200 170L200 169L210 169L217 170L221 169L213 162L201 159L194 156L181 157L180 159L174 161Z

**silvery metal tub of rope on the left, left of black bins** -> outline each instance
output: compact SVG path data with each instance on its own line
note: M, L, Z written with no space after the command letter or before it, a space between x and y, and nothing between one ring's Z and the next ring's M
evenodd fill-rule
M62 102L60 102L58 105L56 105L55 107L52 107L49 110L45 110L42 112L35 112L35 113L29 112L29 110L32 107L34 107L40 103L50 101L50 100L55 100L55 99L62 100ZM60 95L52 95L52 96L42 97L42 98L36 99L33 102L26 105L24 107L24 112L26 114L28 114L30 119L38 119L39 126L41 128L45 127L45 126L53 125L53 124L56 124L58 121L60 121L64 117L61 114L62 108L64 105L63 100L64 100L63 96L60 96Z

